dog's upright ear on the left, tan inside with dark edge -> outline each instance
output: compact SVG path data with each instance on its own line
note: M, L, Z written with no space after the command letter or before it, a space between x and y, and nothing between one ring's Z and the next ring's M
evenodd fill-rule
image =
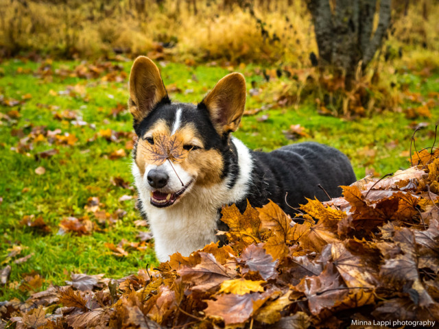
M132 116L141 121L165 97L167 93L158 67L150 58L139 56L130 73L128 107Z

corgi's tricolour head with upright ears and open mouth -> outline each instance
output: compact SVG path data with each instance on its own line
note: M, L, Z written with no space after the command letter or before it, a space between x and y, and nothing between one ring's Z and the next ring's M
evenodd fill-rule
M226 178L232 170L230 132L237 130L245 104L240 73L223 77L195 106L171 103L154 62L143 56L135 60L128 101L139 137L134 166L153 206L172 206L192 188Z

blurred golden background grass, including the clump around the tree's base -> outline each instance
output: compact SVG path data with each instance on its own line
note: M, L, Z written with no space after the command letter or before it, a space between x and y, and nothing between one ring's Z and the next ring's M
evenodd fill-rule
M86 60L147 55L189 65L277 66L272 75L292 79L272 84L266 97L285 105L316 100L320 113L343 117L398 108L405 88L392 79L398 69L438 72L438 1L392 1L375 61L356 69L361 64L356 60L342 75L331 65L322 67L316 55L321 49L309 8L319 2L324 1L0 0L0 55ZM327 2L337 8L337 1ZM377 30L381 1L372 3ZM270 79L270 72L264 75Z

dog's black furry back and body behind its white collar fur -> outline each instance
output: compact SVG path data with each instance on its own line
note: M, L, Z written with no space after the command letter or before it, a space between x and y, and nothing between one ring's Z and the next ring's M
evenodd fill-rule
M261 207L271 199L292 214L291 207L305 204L305 198L339 197L340 185L355 182L355 173L348 158L342 152L318 143L287 145L269 153L252 151L253 172L248 201ZM240 210L246 208L246 200L239 202Z

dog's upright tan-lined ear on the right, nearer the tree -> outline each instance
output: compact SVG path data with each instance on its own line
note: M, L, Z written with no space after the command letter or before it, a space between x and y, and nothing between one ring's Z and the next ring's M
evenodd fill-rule
M216 84L201 102L209 111L220 135L235 132L246 107L246 80L241 73L230 73Z

